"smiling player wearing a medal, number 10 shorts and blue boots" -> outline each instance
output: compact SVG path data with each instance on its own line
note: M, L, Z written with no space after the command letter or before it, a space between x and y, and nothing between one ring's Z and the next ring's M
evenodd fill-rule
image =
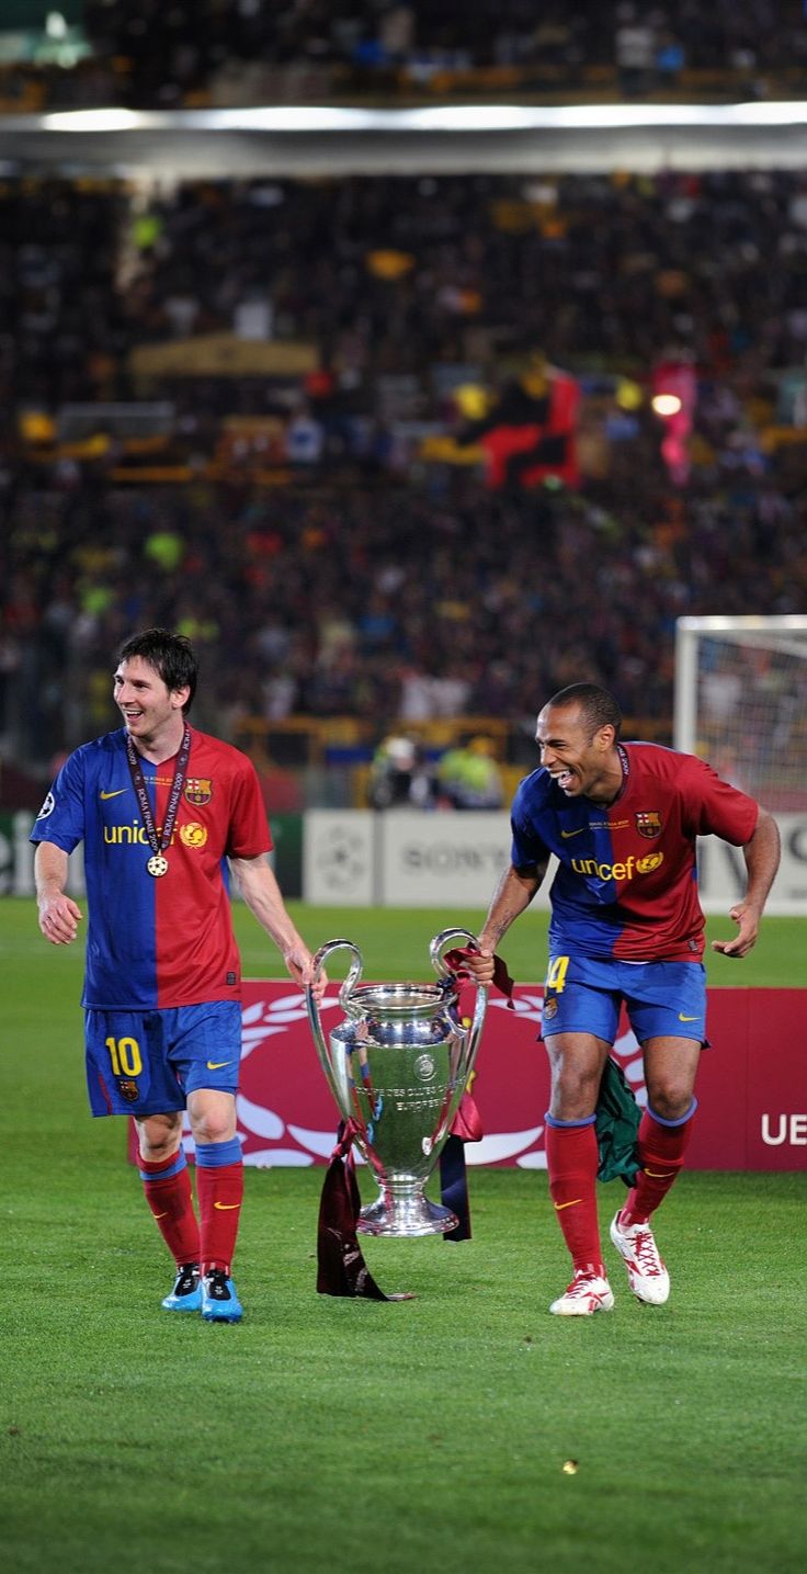
M225 861L300 985L311 955L266 859L272 841L252 762L187 722L197 674L178 634L151 628L126 641L113 680L123 727L69 756L31 841L39 929L55 946L76 940L82 919L64 885L69 853L83 842L90 1107L135 1119L143 1190L176 1262L162 1305L238 1322L241 962Z

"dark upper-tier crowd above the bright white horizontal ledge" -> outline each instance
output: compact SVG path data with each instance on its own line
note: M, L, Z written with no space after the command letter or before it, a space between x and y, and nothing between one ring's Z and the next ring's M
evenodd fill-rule
M85 0L76 69L16 68L50 107L315 102L511 91L799 96L801 0Z

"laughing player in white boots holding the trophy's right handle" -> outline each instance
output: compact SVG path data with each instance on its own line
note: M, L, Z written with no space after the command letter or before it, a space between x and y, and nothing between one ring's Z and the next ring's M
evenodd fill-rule
M713 941L725 957L754 946L779 866L776 822L754 798L694 756L621 743L620 727L617 700L593 683L573 683L541 710L541 767L516 790L511 864L478 937L480 955L469 962L480 981L492 977L496 946L554 853L543 1009L552 1075L546 1163L574 1277L549 1310L566 1317L614 1306L596 1215L595 1110L621 1003L642 1045L648 1103L640 1168L610 1239L639 1300L661 1305L670 1292L650 1220L684 1162L706 1044L695 839L714 834L743 848L747 889L730 914L738 932Z

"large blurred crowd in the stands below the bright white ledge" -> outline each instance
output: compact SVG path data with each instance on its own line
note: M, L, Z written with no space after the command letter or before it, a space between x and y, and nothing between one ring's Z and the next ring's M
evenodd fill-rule
M109 718L109 650L168 623L244 715L513 715L573 678L670 715L680 614L807 600L807 186L798 173L0 189L0 735L41 762ZM776 266L774 266L776 263ZM138 370L225 335L227 375ZM308 371L238 371L238 346ZM579 488L491 490L462 390L540 346L584 390ZM695 370L686 477L648 406ZM69 441L164 401L181 478ZM275 420L256 478L230 417ZM58 441L39 444L53 428ZM101 420L102 427L102 420ZM31 436L33 434L33 436ZM799 436L801 434L801 436ZM448 449L440 447L448 439ZM429 442L436 447L429 450ZM146 444L148 447L148 444ZM277 458L277 456L275 456Z

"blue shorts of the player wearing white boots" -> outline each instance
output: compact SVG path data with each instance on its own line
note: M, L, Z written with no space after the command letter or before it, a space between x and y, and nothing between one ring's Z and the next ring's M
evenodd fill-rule
M706 970L700 962L595 962L551 957L541 1037L593 1033L614 1044L625 1003L639 1044L698 1039L706 1044Z

